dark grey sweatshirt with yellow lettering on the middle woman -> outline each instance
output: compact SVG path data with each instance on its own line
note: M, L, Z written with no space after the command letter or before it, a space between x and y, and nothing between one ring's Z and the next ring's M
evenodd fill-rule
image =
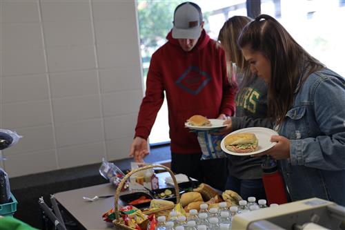
M233 131L248 127L273 128L267 117L268 86L263 79L253 77L243 86L239 86L236 95L236 116L231 117ZM228 172L239 179L262 178L262 157L228 155Z

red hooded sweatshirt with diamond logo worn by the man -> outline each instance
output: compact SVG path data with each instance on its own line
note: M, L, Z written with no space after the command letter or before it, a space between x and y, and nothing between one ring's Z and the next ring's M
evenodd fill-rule
M209 119L219 114L233 115L237 86L230 86L226 75L224 50L210 39L205 30L197 44L186 52L173 39L153 55L146 80L146 94L141 102L135 136L150 135L157 113L168 102L170 148L173 153L201 153L197 136L184 123L193 115Z

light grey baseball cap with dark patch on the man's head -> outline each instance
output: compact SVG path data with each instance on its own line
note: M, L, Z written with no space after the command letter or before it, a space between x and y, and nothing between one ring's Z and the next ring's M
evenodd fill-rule
M198 39L201 35L202 13L197 4L179 4L174 12L172 37L175 39Z

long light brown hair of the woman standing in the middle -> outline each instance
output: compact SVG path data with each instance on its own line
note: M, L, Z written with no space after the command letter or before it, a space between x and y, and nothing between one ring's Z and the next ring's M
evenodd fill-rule
M218 41L221 42L221 46L226 52L226 63L230 82L234 80L234 74L244 76L244 81L247 80L246 76L251 75L248 62L244 59L240 48L237 46L239 34L250 21L253 21L250 17L233 16L219 30ZM236 65L235 70L233 64Z

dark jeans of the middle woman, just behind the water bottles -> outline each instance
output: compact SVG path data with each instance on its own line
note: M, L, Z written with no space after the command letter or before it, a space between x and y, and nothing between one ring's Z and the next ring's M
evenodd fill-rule
M248 200L248 197L250 196L254 196L257 200L266 200L266 193L262 179L241 180L228 175L225 189L230 189L239 193L244 200Z

